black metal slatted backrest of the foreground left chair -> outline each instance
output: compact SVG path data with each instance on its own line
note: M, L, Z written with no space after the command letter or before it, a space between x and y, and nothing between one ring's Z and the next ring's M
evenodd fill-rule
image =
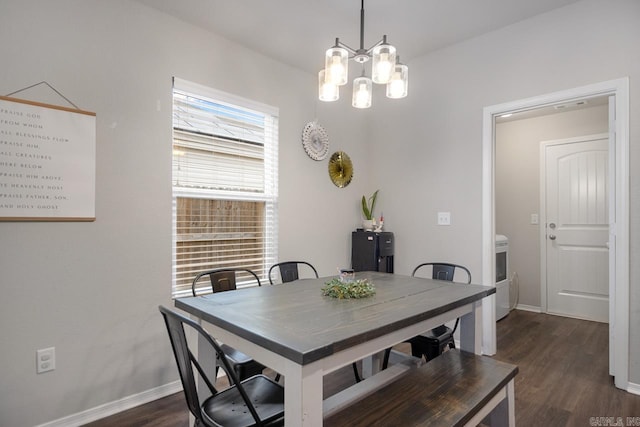
M164 306L159 306L158 309L162 316L164 317L165 325L167 326L167 332L169 333L169 340L171 341L171 347L173 348L173 354L176 358L176 364L178 365L178 372L180 374L180 381L182 381L182 388L184 391L185 398L187 400L187 406L189 410L193 414L194 417L198 420L196 425L207 425L204 422L202 409L200 407L200 400L198 397L198 390L196 387L196 376L193 371L193 367L197 369L200 377L204 380L211 394L218 394L218 390L216 390L215 377L214 381L211 381L209 376L204 372L196 357L194 357L193 353L189 348L189 344L187 342L187 335L185 333L184 327L187 326L195 330L200 336L202 336L207 343L211 345L213 350L215 351L216 363L220 365L222 369L224 369L227 378L229 379L230 384L232 386L237 387L242 399L245 401L247 408L253 415L253 418L256 420L256 423L260 424L260 418L258 413L256 412L251 400L249 399L244 387L238 380L235 372L231 368L229 361L224 355L222 348L218 345L218 343L209 335L207 331L205 331L202 326L191 320L190 318L183 316L173 310L170 310ZM199 345L202 345L202 341L199 342Z

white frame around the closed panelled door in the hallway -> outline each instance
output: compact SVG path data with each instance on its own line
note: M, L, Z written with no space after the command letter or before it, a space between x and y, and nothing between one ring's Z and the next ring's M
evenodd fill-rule
M573 138L562 138L562 139L554 139L549 141L541 141L540 142L540 229L538 234L538 239L540 240L540 310L543 313L549 312L548 305L548 281L546 279L547 273L547 228L543 227L543 224L547 223L547 161L545 157L546 147L551 145L563 145L563 144L571 144L576 142L585 142L585 141L593 141L593 140L601 140L608 139L609 140L609 153L611 153L611 138L609 133L598 133L592 135L582 135ZM607 180L610 183L613 178L615 178L615 167L614 170L611 170L611 162L607 163L607 167L610 169L608 171ZM608 190L611 190L611 184L608 184ZM610 197L610 194L607 194L607 209L609 211L609 215L612 212L615 212L614 202ZM610 221L611 223L611 221ZM609 234L611 236L611 234ZM614 248L615 249L615 248ZM609 251L609 267L611 264L615 263L615 250ZM613 279L615 281L615 278ZM609 285L611 287L611 275L609 275ZM609 296L611 298L611 296ZM610 300L611 301L611 300ZM611 318L611 316L609 316ZM610 337L611 338L611 337ZM610 340L611 341L611 340Z

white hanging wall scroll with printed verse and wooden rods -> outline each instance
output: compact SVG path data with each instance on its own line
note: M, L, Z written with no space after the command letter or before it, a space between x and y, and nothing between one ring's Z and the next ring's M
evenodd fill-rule
M0 221L94 221L95 152L95 113L0 96Z

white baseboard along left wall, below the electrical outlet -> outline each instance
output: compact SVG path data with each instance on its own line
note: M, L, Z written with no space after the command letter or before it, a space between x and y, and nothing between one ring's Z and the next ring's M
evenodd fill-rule
M83 424L87 424L108 417L110 415L117 414L118 412L126 411L127 409L135 408L136 406L169 396L170 394L177 393L181 390L182 384L180 383L180 381L174 381L172 383L165 384L151 390L143 391L142 393L127 396L113 402L96 406L95 408L87 409L86 411L78 412L77 414L72 414L64 418L49 421L36 427L81 426Z

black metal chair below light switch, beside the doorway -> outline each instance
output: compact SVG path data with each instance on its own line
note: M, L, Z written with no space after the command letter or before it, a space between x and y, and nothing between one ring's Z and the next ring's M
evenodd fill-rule
M471 272L469 271L469 269L462 265L445 262L425 262L423 264L420 264L413 269L411 276L415 276L416 272L418 272L419 269L429 266L432 269L432 279L453 282L456 270L460 270L466 273L466 283L471 283ZM448 327L447 325L440 325L431 329L425 334L418 335L407 340L406 342L411 343L411 355L418 358L424 356L425 360L428 362L441 355L447 346L449 346L449 348L456 348L453 334L458 329L459 322L460 319L456 319L456 323L453 329ZM385 352L384 361L382 364L383 369L385 369L389 363L390 351L391 349L387 349Z

